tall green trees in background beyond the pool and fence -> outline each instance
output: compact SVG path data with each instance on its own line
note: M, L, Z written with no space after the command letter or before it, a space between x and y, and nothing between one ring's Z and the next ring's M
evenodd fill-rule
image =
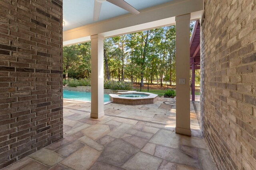
M104 62L108 62L109 68L106 69L104 64L104 80L109 71L112 80L140 82L142 77L144 81L175 84L175 39L175 25L104 39ZM63 47L63 71L68 78L90 79L90 42ZM199 70L196 70L195 78L198 85Z

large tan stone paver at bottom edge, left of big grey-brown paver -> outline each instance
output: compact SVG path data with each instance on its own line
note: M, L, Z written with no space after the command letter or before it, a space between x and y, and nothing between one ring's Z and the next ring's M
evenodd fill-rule
M84 146L62 160L60 163L75 170L89 169L98 159L101 152L88 146Z

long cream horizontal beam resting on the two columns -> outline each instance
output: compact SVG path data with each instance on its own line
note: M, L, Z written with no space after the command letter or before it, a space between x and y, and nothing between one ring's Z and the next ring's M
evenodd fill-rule
M101 34L112 37L175 24L175 16L191 13L191 20L200 19L203 0L173 0L168 3L147 8L140 14L126 14L99 21L63 32L63 45L90 41L90 35Z

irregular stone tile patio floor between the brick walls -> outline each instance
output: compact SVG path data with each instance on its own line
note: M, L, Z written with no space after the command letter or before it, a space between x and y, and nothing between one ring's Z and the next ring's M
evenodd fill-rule
M90 118L90 103L64 100L64 138L5 170L214 170L191 102L192 137L176 134L175 100L108 104Z

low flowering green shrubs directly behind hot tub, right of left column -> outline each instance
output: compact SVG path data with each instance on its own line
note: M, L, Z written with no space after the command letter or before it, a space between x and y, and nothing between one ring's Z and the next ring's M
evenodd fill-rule
M104 88L110 90L133 90L132 83L124 81L109 80L104 82Z

